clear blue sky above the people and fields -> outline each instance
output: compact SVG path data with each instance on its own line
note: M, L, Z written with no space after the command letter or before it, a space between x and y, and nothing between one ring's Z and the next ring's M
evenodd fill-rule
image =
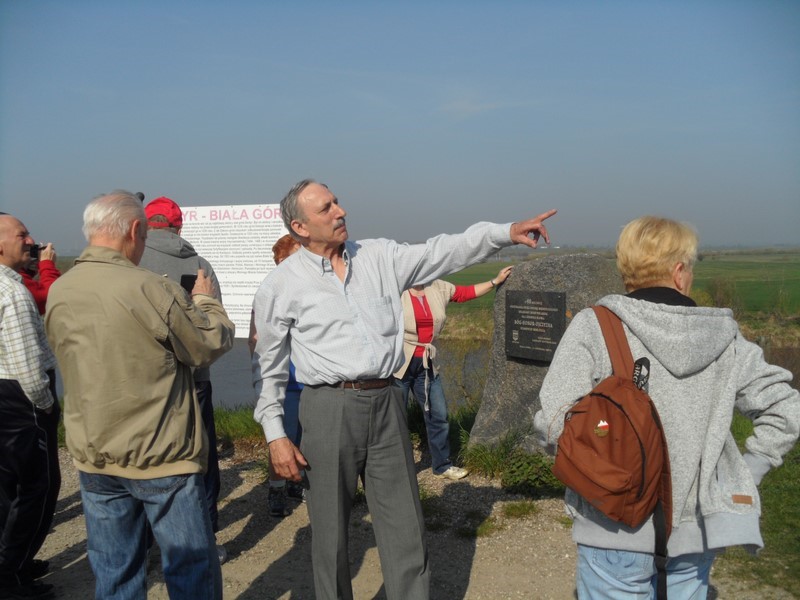
M0 2L0 209L61 254L114 188L329 184L354 239L558 208L800 244L800 2Z

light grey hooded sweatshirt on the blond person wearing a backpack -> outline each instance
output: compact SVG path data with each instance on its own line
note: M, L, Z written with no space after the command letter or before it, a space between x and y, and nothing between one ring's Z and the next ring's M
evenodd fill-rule
M648 391L664 425L672 467L669 555L763 547L757 486L782 463L800 432L800 394L789 386L791 373L764 361L729 309L620 295L598 304L622 319L634 360L650 360ZM540 391L534 428L548 451L555 451L566 410L610 374L600 325L594 311L583 310L564 333ZM730 432L734 408L754 425L744 456ZM575 542L653 552L652 518L632 529L572 490L565 499Z

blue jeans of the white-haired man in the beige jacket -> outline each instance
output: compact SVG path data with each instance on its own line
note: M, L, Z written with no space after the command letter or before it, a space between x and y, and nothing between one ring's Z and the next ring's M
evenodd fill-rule
M170 598L222 598L222 572L202 475L157 479L79 475L98 600L147 597L145 521L161 548Z

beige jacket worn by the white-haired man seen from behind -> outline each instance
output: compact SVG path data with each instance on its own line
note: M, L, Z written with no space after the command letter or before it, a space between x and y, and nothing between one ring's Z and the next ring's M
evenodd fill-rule
M192 368L230 350L209 296L87 247L50 288L45 328L64 380L67 448L88 473L152 479L206 468Z

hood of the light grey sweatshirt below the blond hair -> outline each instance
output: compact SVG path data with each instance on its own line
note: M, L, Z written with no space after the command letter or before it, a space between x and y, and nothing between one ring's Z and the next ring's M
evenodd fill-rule
M692 375L717 360L739 326L727 308L671 306L621 295L598 304L616 313L647 351L675 377Z

